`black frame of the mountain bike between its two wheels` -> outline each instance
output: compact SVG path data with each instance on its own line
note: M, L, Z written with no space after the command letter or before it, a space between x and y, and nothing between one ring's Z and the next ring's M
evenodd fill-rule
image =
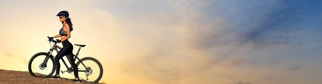
M51 56L51 53L53 52L53 50L55 50L57 53L59 52L59 50L58 49L62 49L62 47L60 47L60 46L58 46L58 45L56 45L57 43L55 43L55 44L53 44L53 46L49 49L49 51L48 51L48 53L49 53L49 55L45 58L45 60L44 60L44 62L43 62L43 67L46 67L46 64L47 64L47 62L48 62L48 60L49 60L49 57ZM78 61L80 61L80 59L78 58L78 53L79 53L79 51L80 51L80 49L81 49L81 47L79 47L79 49L78 49L78 51L77 51L77 53L76 53L76 55L75 54L73 54L74 55L74 57L75 57L75 61L76 61L76 59L78 59ZM68 57L66 57L67 59L70 59L70 58L68 58ZM63 61L63 63L64 63L64 65L66 66L66 68L67 68L67 70L66 71L61 71L62 73L63 72L69 72L69 73L71 73L72 71L73 71L73 67L72 66L70 66L69 68L68 68L68 65L66 64L66 62L64 61L64 59L62 58L61 59L62 61ZM83 62L80 62L84 67L85 67L85 69L87 70L87 68L86 68L86 66L83 64ZM55 65L56 65L56 63L55 63ZM78 70L79 72L85 72L86 70Z

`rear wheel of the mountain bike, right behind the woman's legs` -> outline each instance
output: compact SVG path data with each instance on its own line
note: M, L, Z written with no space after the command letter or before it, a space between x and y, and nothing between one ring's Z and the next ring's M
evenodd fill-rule
M78 66L79 78L86 82L97 83L103 75L103 67L101 63L91 57L82 58L76 63Z

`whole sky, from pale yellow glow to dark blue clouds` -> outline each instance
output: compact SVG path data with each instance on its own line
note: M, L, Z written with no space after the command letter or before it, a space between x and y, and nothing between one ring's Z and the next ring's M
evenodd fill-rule
M0 69L28 71L59 33L62 10L74 24L69 41L86 45L79 57L103 65L100 82L322 82L322 1L314 0L1 0Z

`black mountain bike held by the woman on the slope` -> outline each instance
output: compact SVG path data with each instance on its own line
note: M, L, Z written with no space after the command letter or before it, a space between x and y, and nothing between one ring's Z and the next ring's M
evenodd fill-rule
M43 78L48 78L52 76L52 74L56 70L56 63L54 60L54 57L52 55L53 50L55 50L57 53L59 52L58 49L62 49L62 47L56 45L57 42L53 39L49 39L49 45L50 49L48 52L39 52L34 54L31 59L29 60L28 64L28 70L30 75L35 76L35 77L43 77ZM55 44L51 44L50 42L53 42ZM86 45L80 45L80 44L74 44L79 47L76 55L74 55L74 61L76 59L78 62L76 65L78 66L78 74L79 78L81 78L85 82L90 82L90 83L97 83L103 75L103 67L101 63L96 60L95 58L92 57L85 57L82 59L78 58L79 51L82 47L85 47ZM73 59L73 58L68 58L67 59ZM72 73L73 72L73 67L68 67L64 59L61 59L66 66L67 70L61 72L64 74L64 72ZM69 61L69 60L68 60Z

